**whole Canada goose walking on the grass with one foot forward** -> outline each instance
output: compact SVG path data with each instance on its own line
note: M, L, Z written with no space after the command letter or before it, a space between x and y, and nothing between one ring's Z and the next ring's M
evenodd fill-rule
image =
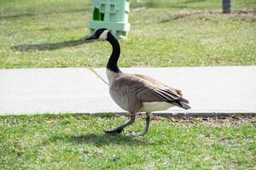
M142 136L148 133L151 111L164 111L172 106L189 109L189 101L182 97L182 92L175 88L139 74L127 74L119 70L117 62L120 55L118 40L106 28L95 31L87 40L107 40L112 45L113 51L108 59L107 77L109 94L113 101L123 110L129 111L130 121L125 122L105 133L121 133L123 129L133 122L137 112L146 112L146 127L144 133L133 133L134 136Z

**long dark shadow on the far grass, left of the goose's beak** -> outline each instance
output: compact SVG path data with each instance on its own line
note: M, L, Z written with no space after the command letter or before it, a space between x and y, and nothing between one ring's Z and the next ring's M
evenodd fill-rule
M55 43L41 43L41 44L21 44L11 47L14 51L52 51L59 48L67 48L78 46L83 43L89 43L92 41L87 41L85 38L80 38L78 40L70 40L65 42L55 42Z

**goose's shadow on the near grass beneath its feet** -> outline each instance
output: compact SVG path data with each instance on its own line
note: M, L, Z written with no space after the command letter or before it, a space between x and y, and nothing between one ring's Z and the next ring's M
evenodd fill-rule
M121 144L121 145L148 145L149 142L143 138L136 138L130 135L122 134L96 134L87 133L80 136L55 136L51 139L52 142L58 140L67 140L67 142L75 144L94 144L97 147L108 144Z

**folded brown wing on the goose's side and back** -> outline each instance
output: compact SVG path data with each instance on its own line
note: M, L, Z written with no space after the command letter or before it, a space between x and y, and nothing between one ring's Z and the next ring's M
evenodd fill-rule
M116 91L128 90L140 102L165 101L179 107L183 107L183 103L189 104L187 99L183 99L180 90L144 75L124 74L113 82L111 88Z

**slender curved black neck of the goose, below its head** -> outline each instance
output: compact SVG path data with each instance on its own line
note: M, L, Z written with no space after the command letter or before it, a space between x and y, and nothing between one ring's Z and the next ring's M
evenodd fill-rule
M113 37L113 35L108 32L108 38L107 38L108 42L110 42L110 44L112 45L112 54L110 55L110 58L108 59L108 65L107 68L110 71L114 71L114 72L119 72L119 67L117 65L117 62L119 60L119 55L120 55L120 46L119 46L119 42L118 40Z

